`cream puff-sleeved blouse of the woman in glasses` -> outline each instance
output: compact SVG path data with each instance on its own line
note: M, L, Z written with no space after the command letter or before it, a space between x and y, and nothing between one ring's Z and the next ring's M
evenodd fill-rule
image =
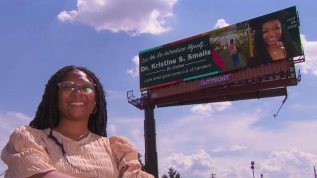
M15 129L1 152L1 159L8 166L4 177L27 178L58 171L78 178L154 178L140 170L137 151L126 137L89 133L75 141L53 131L64 146L69 164L49 134L50 129Z

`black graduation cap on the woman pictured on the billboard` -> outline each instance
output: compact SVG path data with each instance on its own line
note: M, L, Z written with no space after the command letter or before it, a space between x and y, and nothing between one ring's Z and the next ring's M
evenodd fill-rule
M287 17L288 13L285 10L280 10L277 12L273 12L270 14L263 15L261 17L257 17L248 21L249 26L256 30L259 27L262 28L262 25L271 20L280 20L283 21L285 17Z

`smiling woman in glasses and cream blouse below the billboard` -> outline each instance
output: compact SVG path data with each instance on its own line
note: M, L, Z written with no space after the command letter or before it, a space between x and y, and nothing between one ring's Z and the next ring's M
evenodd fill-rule
M95 74L66 66L46 85L30 126L1 153L5 178L153 178L141 171L132 142L106 137L106 100Z

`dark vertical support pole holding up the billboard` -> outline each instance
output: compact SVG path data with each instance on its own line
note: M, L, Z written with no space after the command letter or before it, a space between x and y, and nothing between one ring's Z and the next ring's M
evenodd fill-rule
M144 107L144 140L145 140L145 170L155 178L159 178L158 152L154 108L149 102L143 103Z

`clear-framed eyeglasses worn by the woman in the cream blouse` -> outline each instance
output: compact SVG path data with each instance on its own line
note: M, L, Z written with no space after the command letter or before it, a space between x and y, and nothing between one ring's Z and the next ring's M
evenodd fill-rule
M59 92L63 94L70 94L71 92L76 90L76 86L83 94L92 94L95 90L96 84L90 82L82 82L80 84L75 84L74 82L64 81L58 83L57 86L59 87Z

